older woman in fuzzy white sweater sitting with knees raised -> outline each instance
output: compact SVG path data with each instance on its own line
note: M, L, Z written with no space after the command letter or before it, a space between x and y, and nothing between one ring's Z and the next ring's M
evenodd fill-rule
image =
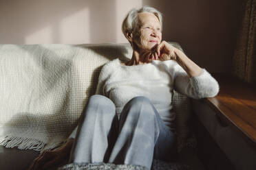
M122 32L134 49L131 60L116 59L103 66L97 95L89 98L67 143L41 154L31 169L58 162L70 153L71 146L70 162L151 169L153 158L170 160L175 154L173 89L197 99L217 95L216 80L162 40L158 10L147 6L131 10Z

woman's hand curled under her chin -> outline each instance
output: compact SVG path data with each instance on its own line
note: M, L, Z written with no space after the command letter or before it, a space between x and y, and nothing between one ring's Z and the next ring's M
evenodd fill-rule
M157 45L154 49L153 52L151 53L149 59L151 60L176 60L177 53L179 49L176 49L172 45L170 45L166 41L162 41L159 45Z

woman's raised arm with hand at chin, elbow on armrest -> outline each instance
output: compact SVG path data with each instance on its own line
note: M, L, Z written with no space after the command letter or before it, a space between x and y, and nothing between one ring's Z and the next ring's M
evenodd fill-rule
M180 49L162 41L153 56L156 60L175 60L174 88L179 93L199 99L214 97L219 92L219 84L205 69L190 60ZM156 58L157 57L157 58Z

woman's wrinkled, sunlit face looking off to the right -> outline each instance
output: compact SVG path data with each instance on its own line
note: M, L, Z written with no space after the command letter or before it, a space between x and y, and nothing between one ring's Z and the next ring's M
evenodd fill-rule
M133 41L140 49L151 50L162 40L162 27L158 18L149 12L138 14L138 32Z

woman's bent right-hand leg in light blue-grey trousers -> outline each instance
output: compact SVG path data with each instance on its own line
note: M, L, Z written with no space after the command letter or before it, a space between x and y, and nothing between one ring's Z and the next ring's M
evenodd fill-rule
M109 158L109 162L117 164L142 165L150 169L156 143L171 145L158 142L158 136L167 141L174 138L165 132L167 128L162 128L164 123L158 111L145 97L135 97L126 104L119 125L119 136Z

